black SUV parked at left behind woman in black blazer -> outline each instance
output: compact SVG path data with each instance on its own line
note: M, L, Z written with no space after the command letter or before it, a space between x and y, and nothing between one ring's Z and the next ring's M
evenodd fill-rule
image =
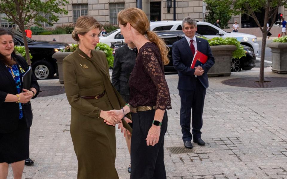
M13 40L15 46L24 46L22 33L11 28L9 30L14 34ZM26 39L28 41L29 52L33 56L31 59L32 69L37 79L53 78L58 67L56 64L57 60L52 58L52 55L69 44L53 41L36 41L28 37Z

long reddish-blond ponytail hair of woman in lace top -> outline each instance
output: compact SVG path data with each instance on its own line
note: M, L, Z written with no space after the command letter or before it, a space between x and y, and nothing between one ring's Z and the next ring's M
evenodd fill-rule
M158 46L163 64L167 65L169 63L167 58L168 48L162 38L148 30L149 20L144 11L135 7L123 9L118 13L117 19L121 25L126 26L129 22L140 34L146 35L150 41Z

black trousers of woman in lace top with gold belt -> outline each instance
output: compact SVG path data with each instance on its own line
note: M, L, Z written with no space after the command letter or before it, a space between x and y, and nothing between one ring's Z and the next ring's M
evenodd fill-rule
M166 179L164 135L167 132L167 111L161 125L159 141L146 145L146 137L155 117L155 109L132 114L131 179Z

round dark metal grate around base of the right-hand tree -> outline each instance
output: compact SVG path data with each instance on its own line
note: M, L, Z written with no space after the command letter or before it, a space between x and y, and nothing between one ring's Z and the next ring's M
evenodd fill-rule
M249 87L249 88L275 88L275 87L287 87L287 78L282 77L265 77L264 83L259 83L259 77L248 78L233 78L224 80L221 83L229 86L236 87Z

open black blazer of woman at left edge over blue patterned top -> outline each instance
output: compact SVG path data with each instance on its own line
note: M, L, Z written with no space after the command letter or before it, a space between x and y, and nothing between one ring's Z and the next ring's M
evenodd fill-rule
M21 65L22 69L28 69L26 60L18 55L12 54L12 57L16 59L18 68ZM36 80L35 75L32 73L31 85L37 90L37 93L33 98L39 94L39 84ZM21 87L22 89L22 87ZM30 89L27 89L30 90ZM3 62L0 62L0 133L9 133L17 129L19 121L19 104L16 102L4 102L7 94L18 94L15 81L11 73L5 67ZM31 103L22 104L22 110L24 119L27 124L27 128L32 125L32 109Z

